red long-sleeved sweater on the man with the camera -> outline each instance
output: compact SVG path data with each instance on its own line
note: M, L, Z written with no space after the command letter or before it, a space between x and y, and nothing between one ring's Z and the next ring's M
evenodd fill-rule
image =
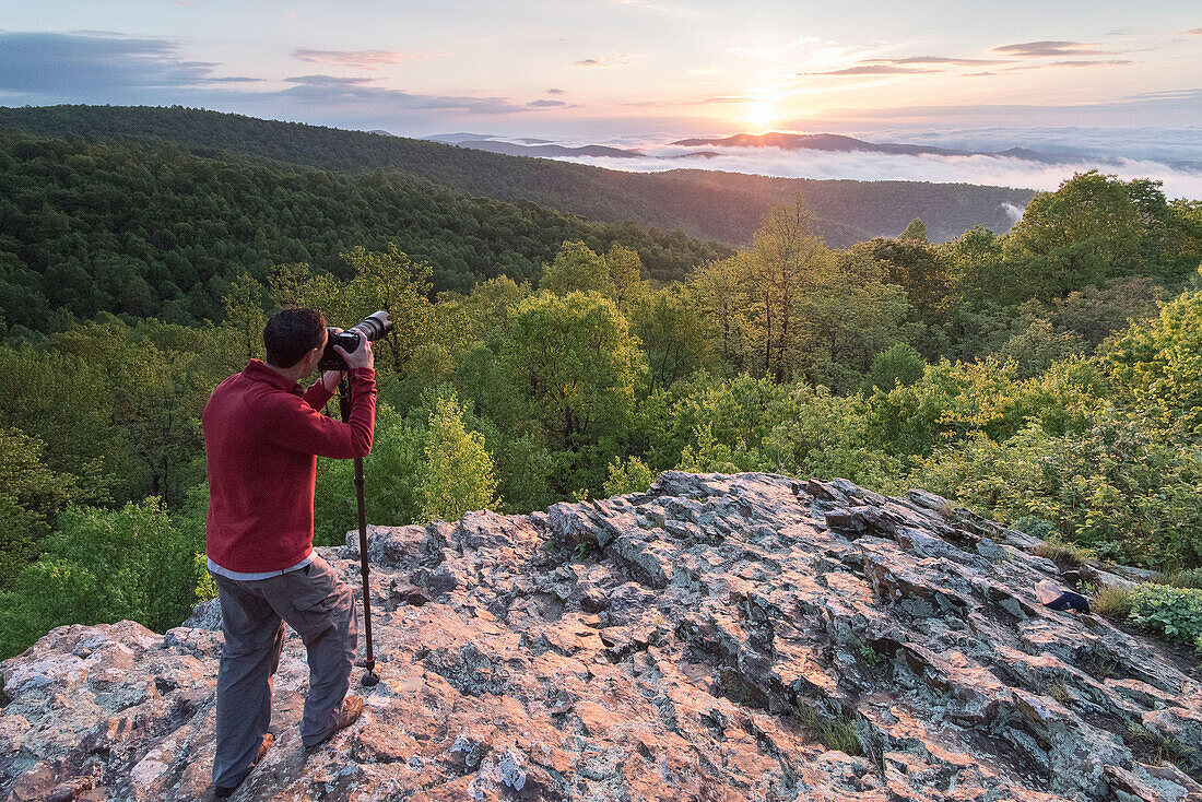
M322 415L322 382L302 392L251 360L213 391L201 424L209 474L206 551L230 571L279 571L313 551L317 457L364 457L375 424L375 372L351 370L351 420Z

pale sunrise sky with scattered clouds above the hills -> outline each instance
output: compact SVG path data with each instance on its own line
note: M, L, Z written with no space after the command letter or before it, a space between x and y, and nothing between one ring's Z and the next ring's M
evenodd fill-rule
M1202 2L0 0L0 105L405 136L767 130L1202 162Z

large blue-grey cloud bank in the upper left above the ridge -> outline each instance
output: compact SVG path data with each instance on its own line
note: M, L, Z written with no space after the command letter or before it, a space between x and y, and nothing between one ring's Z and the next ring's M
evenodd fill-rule
M0 52L5 54L0 91L95 97L113 87L169 89L256 81L214 76L220 64L184 60L178 49L168 40L114 34L0 32Z

